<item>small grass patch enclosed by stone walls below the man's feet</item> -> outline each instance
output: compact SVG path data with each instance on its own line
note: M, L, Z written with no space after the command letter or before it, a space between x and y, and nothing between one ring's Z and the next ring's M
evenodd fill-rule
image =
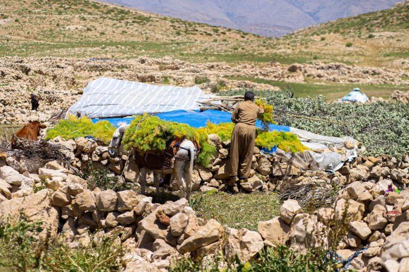
M249 230L257 230L257 222L277 216L281 205L274 193L195 193L189 202L201 218L214 218L231 228Z

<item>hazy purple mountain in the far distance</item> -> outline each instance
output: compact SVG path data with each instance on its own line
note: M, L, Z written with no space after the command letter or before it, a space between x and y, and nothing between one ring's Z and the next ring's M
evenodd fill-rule
M398 0L102 0L215 26L278 37L337 18L388 9Z

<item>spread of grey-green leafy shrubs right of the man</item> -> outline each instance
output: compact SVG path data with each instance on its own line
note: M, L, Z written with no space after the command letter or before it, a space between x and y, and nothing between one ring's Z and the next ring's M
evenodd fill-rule
M283 118L280 125L333 137L350 136L365 145L367 154L397 157L409 152L409 105L403 103L352 104L327 102L323 97L288 99L273 93L267 99ZM313 117L313 118L309 118ZM321 119L321 120L320 120Z

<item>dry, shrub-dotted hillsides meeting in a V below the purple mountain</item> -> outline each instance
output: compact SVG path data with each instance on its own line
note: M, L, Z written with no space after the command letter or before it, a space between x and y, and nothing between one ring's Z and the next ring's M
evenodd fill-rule
M407 69L408 17L401 4L270 39L89 0L6 0L0 6L0 56L336 61Z

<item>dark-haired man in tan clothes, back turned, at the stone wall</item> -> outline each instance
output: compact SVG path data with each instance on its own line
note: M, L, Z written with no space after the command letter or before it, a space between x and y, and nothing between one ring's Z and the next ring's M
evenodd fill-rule
M254 104L254 93L247 91L244 102L239 103L233 111L232 144L230 147L230 177L232 182L245 182L252 167L254 141L256 139L257 115L264 109Z

